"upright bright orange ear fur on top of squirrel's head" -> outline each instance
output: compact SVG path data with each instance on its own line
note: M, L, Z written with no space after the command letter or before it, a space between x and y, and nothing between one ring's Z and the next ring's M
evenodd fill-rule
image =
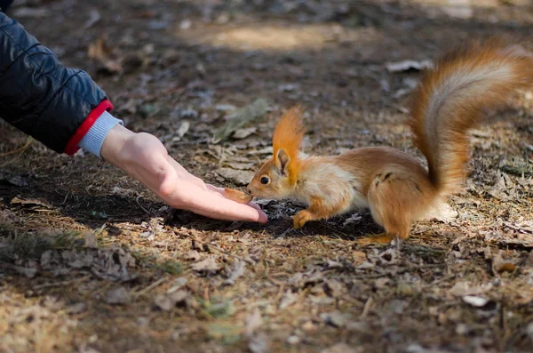
M290 108L276 124L272 137L274 163L277 162L280 149L284 149L290 157L290 181L296 181L298 177L300 160L298 153L305 134L304 124L301 119L302 113L303 111L299 106Z

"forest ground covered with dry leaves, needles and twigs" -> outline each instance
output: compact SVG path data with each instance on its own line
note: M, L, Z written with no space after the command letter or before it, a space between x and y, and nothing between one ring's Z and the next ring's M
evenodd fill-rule
M88 71L132 130L239 188L297 103L308 153L419 156L402 124L419 72L387 64L533 34L529 1L471 3L28 0L11 14ZM379 246L355 244L380 230L367 211L293 230L302 205L265 201L265 226L212 221L1 124L0 350L530 351L532 108L519 92L473 132L465 191L448 200L455 218ZM217 133L232 116L249 121Z

